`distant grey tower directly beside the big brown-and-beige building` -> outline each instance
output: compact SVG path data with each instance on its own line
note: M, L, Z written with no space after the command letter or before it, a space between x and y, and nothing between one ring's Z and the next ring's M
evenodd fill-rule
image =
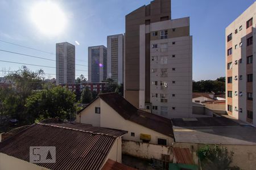
M123 83L123 34L107 37L108 48L108 73L118 84Z

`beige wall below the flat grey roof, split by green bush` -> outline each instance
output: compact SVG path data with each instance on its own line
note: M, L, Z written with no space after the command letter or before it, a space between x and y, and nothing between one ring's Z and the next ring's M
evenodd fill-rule
M193 156L196 151L205 145L197 143L175 143L174 147L190 148ZM233 151L233 163L241 169L254 170L256 167L256 146L255 145L222 145Z

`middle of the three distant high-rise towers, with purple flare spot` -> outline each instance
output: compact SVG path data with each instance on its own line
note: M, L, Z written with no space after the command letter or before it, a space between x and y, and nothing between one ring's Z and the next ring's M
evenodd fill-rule
M102 82L107 76L107 48L104 45L88 47L88 82Z

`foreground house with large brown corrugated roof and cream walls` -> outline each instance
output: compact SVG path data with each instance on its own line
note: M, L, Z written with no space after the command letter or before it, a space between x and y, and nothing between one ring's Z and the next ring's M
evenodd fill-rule
M101 169L109 159L121 163L121 138L126 133L56 119L43 121L2 138L0 169ZM31 146L55 147L56 162L30 163Z

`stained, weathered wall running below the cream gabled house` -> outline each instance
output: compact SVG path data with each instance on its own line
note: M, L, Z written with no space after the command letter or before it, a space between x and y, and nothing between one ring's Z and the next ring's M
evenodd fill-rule
M170 161L174 158L171 146L152 145L150 143L122 141L122 153L142 159L162 159L162 154L170 155Z

